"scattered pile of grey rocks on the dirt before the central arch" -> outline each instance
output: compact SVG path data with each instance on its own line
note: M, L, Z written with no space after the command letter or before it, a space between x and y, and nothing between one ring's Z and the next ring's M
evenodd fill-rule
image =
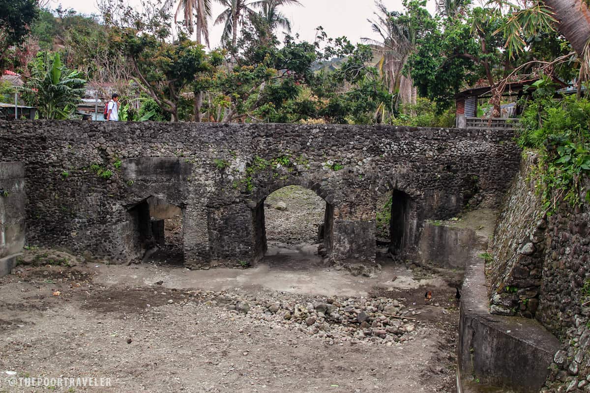
M393 345L408 341L419 323L404 298L242 299L228 292L204 292L208 306L225 306L262 323L299 329L334 345L369 342ZM409 314L409 315L408 315Z

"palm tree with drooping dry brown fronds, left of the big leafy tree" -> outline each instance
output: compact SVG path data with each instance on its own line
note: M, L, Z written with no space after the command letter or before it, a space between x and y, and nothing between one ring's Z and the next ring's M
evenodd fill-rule
M414 48L414 32L397 22L396 18L401 16L399 12L389 12L381 1L376 1L375 4L380 14L375 13L377 20L369 22L382 41L369 38L363 38L363 41L371 44L373 50L381 57L377 66L389 93L398 91L398 101L412 103L415 95L413 82L411 78L402 75L402 70Z

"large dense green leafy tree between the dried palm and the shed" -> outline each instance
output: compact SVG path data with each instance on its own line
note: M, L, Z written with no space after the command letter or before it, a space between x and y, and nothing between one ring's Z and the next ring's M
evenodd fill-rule
M506 22L499 9L476 7L422 31L408 61L419 94L444 110L462 88L484 80L490 86L493 115L498 116L504 88L500 81L521 60L504 50L501 31Z

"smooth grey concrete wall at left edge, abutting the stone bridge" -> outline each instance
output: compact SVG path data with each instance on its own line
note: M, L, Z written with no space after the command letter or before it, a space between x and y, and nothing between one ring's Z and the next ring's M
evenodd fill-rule
M25 245L25 171L0 163L0 276L10 273Z

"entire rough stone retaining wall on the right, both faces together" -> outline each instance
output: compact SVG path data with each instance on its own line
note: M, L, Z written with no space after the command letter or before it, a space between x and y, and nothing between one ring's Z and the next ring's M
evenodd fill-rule
M590 180L580 180L579 206L545 214L535 164L527 153L494 232L491 311L533 316L559 338L542 391L590 391Z

